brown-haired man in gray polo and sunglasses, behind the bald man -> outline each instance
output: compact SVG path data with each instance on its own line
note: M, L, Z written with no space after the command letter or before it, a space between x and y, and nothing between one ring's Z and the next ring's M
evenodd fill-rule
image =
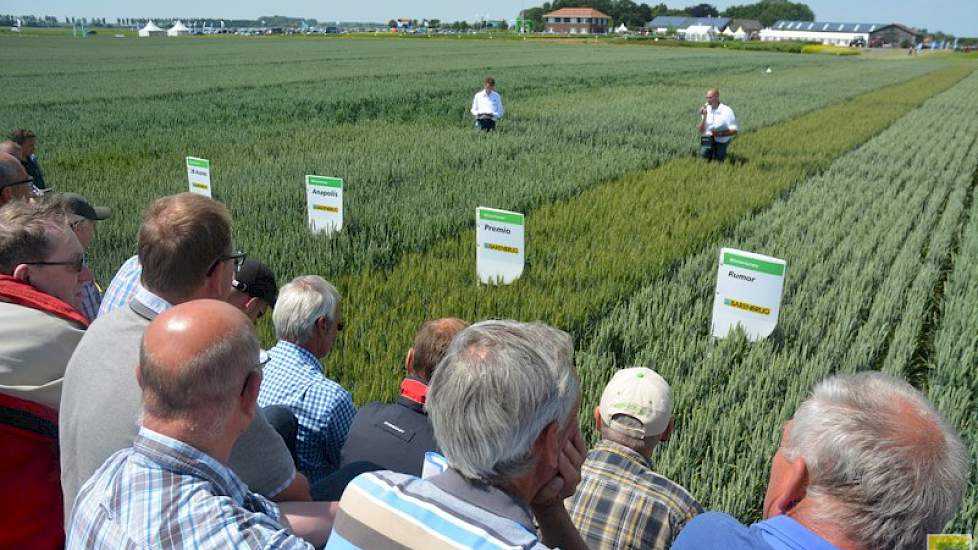
M175 305L227 300L245 259L232 246L224 205L192 193L157 199L146 209L138 249L140 288L127 306L99 315L65 373L60 443L66 516L81 485L137 435L142 404L133 365L146 327ZM251 490L272 500L309 499L308 482L261 414L235 443L228 464Z

